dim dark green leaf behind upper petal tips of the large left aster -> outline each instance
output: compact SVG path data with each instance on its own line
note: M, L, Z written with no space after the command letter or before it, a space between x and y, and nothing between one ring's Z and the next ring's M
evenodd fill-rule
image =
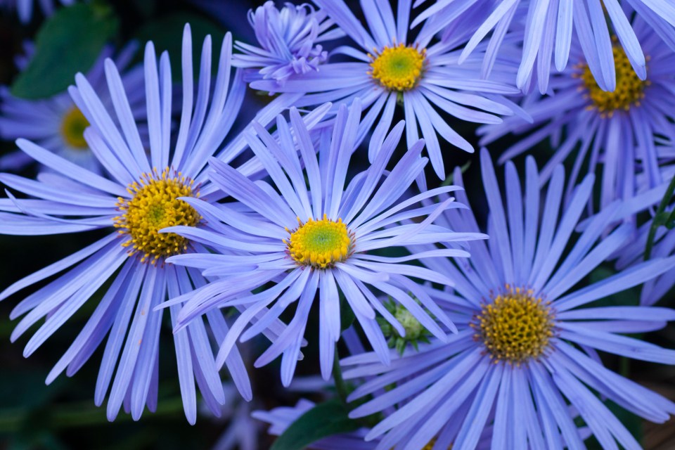
M196 70L202 53L202 44L207 34L210 34L212 39L212 53L215 59L212 60L211 69L212 74L215 75L218 70L217 55L220 53L220 45L225 37L225 30L217 23L195 13L172 13L143 25L134 37L142 44L137 60L143 59L142 49L146 42L153 41L158 55L166 50L172 60L179 62L183 49L183 29L186 23L190 24L192 32L192 58L193 64L195 64L195 77L198 75ZM182 79L181 70L172 70L172 78L174 82L180 82Z

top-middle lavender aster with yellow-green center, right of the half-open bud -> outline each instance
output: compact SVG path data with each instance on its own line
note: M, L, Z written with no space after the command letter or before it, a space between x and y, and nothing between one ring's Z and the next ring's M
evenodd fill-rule
M421 129L432 167L441 179L445 178L445 170L439 136L468 152L473 152L473 146L450 127L439 111L481 124L499 123L498 115L513 114L510 103L501 96L518 93L510 86L515 71L510 60L498 60L492 80L488 81L480 79L479 57L457 65L460 51L454 49L464 43L461 39L433 45L431 37L411 39L411 1L399 1L395 16L388 0L362 2L371 32L359 23L344 1L314 3L353 39L356 46L333 51L347 56L349 61L328 63L321 65L319 71L293 75L283 86L274 80L255 81L250 84L253 89L305 94L295 103L298 107L327 101L351 104L360 98L369 110L359 139L381 115L373 133L375 141L383 139L392 125L394 109L402 103L408 146L419 139ZM377 148L371 146L371 150ZM374 157L372 152L368 154L371 161Z

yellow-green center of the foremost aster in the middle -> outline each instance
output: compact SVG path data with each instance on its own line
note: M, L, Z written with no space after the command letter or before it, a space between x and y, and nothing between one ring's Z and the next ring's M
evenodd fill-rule
M301 266L312 266L316 269L332 267L336 262L342 262L349 257L352 248L353 233L349 233L342 219L333 221L326 218L311 219L304 224L297 219L299 226L290 233L288 240L288 254Z

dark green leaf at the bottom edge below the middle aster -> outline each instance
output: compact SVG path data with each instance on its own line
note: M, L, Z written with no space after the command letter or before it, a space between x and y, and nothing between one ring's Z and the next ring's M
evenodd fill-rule
M323 437L357 430L360 425L348 412L338 399L318 404L290 424L270 450L302 450Z

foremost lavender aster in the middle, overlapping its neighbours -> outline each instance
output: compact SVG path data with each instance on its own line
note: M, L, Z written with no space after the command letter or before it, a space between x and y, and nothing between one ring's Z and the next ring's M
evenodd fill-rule
M324 109L328 107L330 105ZM212 160L212 182L251 211L242 213L227 205L215 210L208 203L187 198L185 201L217 230L201 231L186 226L166 230L214 250L210 255L177 255L168 259L169 262L202 269L205 276L220 275L207 287L179 299L186 300L179 317L181 324L189 323L195 316L214 307L246 307L221 345L218 364L229 355L236 340L245 341L257 335L266 323L276 320L297 300L297 310L288 328L255 361L255 366L264 366L283 354L281 380L283 385L288 386L297 364L307 316L317 292L321 373L326 379L333 367L335 342L340 338L342 307L352 309L373 349L383 361L389 361L387 342L375 320L375 311L399 333L403 333L403 328L375 297L373 290L404 304L437 338L444 339L446 330L456 331L447 316L409 277L436 283L450 284L451 281L434 271L401 263L427 257L465 257L468 256L465 251L445 248L403 257L383 257L371 252L397 248L406 243L463 241L484 238L484 235L454 233L432 224L442 210L461 207L451 199L440 205L418 205L420 200L439 192L454 191L454 186L401 199L428 162L426 158L420 158L423 141L416 142L383 179L385 167L403 132L402 122L394 127L383 143L371 141L371 145L381 146L373 165L356 174L345 186L360 117L358 100L349 113L345 105L340 107L332 136L331 130L325 129L319 138L318 160L297 110L290 111L292 127L283 117L278 117L276 124L280 141L254 122L257 136L247 132L246 141L271 176L273 184L254 183L229 165ZM291 136L295 136L295 141ZM304 174L309 179L309 189L305 185ZM413 217L425 219L420 224L397 224ZM229 255L230 252L244 254L233 256ZM269 281L276 284L263 288ZM257 290L257 293L250 293L252 290ZM345 304L340 304L338 293L344 295ZM446 330L432 321L409 293L415 295ZM261 314L261 309L269 305L269 312ZM256 315L259 316L258 324L245 330L250 319Z

